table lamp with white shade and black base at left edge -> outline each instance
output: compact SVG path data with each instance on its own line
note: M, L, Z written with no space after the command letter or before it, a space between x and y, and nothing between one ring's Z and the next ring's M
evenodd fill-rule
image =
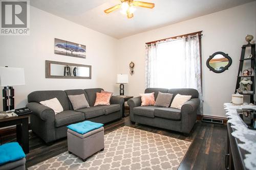
M14 109L14 88L12 86L24 85L24 68L0 67L0 85L3 89L3 110Z

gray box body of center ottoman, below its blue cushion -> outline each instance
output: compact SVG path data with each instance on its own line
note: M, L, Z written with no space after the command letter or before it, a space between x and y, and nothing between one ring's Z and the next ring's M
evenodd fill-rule
M88 121L89 122L89 121ZM68 151L80 157L83 162L88 157L104 150L104 128L81 134L68 129Z

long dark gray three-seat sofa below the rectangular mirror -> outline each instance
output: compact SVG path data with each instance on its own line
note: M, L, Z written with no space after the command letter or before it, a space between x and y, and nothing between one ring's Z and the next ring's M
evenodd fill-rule
M108 123L122 117L123 98L112 96L108 106L94 106L96 92L101 88L75 89L75 90L50 90L34 91L28 95L27 107L33 111L30 115L30 125L34 133L46 143L67 136L67 125L90 120L97 123ZM73 110L68 95L84 94L90 105L89 108ZM55 115L54 111L41 101L57 98L63 107L63 112ZM50 143L49 143L50 144Z

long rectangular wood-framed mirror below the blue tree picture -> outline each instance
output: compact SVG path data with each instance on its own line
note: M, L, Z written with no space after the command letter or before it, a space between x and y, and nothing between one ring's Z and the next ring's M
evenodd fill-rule
M46 60L46 78L92 79L92 66Z

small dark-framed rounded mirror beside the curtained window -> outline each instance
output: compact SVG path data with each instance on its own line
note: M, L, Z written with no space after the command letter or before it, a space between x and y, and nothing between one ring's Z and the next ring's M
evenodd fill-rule
M223 52L212 54L206 61L207 67L216 73L224 72L232 64L232 59Z

